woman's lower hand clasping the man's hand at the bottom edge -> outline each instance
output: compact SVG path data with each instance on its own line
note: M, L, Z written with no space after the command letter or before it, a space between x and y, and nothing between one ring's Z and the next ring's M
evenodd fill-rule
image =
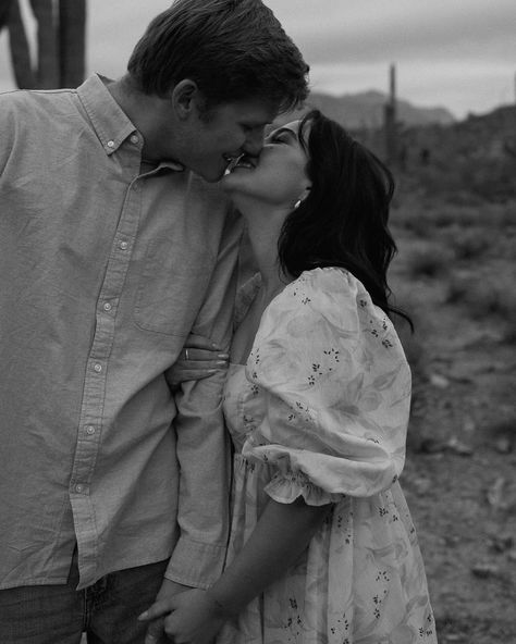
M150 621L163 616L164 632L175 644L210 644L226 619L209 592L200 589L158 598L138 619ZM145 644L158 642L152 633L145 640Z

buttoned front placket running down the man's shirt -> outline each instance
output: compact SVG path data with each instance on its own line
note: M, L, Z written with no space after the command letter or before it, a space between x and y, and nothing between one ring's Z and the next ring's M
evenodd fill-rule
M87 359L77 443L70 479L70 500L78 546L78 569L84 587L96 581L99 534L91 499L91 482L101 445L109 357L115 334L115 317L131 262L142 209L142 181L128 185L105 278L96 305L96 327Z

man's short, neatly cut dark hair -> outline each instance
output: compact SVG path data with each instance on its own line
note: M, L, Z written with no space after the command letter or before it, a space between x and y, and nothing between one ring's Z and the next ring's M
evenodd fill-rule
M127 64L145 94L194 81L207 108L261 99L285 112L308 95L308 65L261 0L176 0L147 27Z

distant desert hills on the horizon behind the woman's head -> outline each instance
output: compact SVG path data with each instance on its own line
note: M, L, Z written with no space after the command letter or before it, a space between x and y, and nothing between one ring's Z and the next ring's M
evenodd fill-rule
M385 160L385 101L377 91L341 98L312 94L304 110L282 114L277 124L317 108ZM416 191L421 198L441 196L455 203L516 199L516 106L456 121L442 108L398 101L396 121L396 156L388 163L398 194Z

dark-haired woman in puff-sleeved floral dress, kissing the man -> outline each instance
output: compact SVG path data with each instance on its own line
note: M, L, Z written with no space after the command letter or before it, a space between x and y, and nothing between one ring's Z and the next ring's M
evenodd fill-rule
M389 319L389 171L310 112L224 179L259 288L232 343L228 566L158 603L176 644L437 642L397 478L410 372Z

